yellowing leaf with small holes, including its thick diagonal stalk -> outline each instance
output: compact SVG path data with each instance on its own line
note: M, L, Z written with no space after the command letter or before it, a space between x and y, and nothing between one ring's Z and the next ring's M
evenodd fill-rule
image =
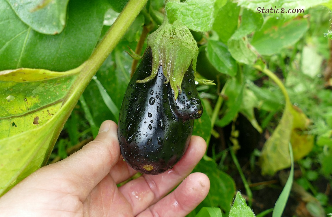
M119 22L78 68L63 73L25 68L0 72L0 129L7 132L0 137L0 194L45 165L70 111L145 3L130 0ZM12 133L16 128L11 127L21 128Z

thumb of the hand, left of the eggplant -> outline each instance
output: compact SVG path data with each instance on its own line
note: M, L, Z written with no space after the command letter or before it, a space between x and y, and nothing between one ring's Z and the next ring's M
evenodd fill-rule
M110 172L120 158L117 124L104 121L95 140L66 159L49 165L48 172L54 177L63 177L81 199ZM44 167L47 170L47 166ZM51 170L51 171L50 171Z

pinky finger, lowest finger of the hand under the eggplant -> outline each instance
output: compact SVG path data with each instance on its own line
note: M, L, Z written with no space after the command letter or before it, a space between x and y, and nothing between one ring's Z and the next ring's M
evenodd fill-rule
M146 208L137 217L182 217L200 204L210 189L203 173L192 173L169 195Z

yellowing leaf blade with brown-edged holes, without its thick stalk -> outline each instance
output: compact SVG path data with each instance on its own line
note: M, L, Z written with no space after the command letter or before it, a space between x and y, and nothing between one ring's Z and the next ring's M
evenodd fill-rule
M0 72L0 194L41 166L69 111L65 100L76 78L71 72L47 70ZM15 99L8 102L7 96Z

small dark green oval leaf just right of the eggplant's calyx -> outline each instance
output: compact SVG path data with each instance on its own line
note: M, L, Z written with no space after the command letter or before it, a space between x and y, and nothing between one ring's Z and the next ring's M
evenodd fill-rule
M219 41L209 40L206 49L207 58L216 70L229 76L236 75L237 65L226 45Z

